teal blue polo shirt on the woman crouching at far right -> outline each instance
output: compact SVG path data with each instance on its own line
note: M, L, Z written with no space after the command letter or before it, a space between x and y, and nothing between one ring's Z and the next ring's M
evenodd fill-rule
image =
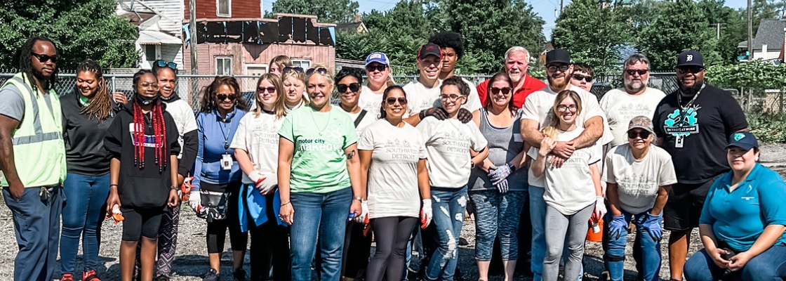
M710 224L715 238L733 250L747 251L764 228L786 225L786 183L777 172L756 164L735 190L729 191L733 172L721 176L710 187L699 224ZM775 245L786 243L786 233Z

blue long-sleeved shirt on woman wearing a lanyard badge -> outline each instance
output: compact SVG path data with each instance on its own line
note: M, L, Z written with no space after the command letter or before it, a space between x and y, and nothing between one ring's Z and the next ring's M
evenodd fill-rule
M235 150L230 149L230 143L245 113L241 109L235 109L226 113L226 121L222 120L218 109L213 109L211 113L196 114L199 149L196 150L194 163L194 189L199 190L201 182L226 184L241 180L241 168L235 159ZM221 157L224 154L232 157L230 170L221 168Z

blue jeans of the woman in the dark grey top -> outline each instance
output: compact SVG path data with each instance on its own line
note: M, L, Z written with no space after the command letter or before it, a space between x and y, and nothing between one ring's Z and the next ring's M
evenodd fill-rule
M60 244L60 271L74 273L79 238L83 235L82 258L84 271L98 268L98 248L101 246L101 222L106 214L109 197L109 174L85 176L68 173L63 183L68 202L63 206L63 235Z

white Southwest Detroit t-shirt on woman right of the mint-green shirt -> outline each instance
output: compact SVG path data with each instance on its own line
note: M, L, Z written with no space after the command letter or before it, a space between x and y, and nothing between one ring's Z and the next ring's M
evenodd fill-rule
M421 209L417 161L428 157L421 132L376 120L365 128L358 150L372 150L367 183L369 218L414 216Z

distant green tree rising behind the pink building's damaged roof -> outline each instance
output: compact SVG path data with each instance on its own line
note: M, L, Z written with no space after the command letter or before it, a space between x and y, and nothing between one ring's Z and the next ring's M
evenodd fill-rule
M314 15L323 23L345 24L354 21L358 2L351 0L277 0L273 13Z

